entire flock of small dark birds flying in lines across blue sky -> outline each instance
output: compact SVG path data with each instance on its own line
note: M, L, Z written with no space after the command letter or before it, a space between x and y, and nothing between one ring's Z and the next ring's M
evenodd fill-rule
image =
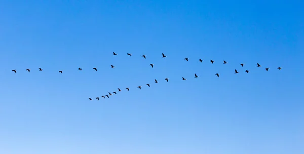
M115 52L113 52L113 55L115 56L115 55L118 55L118 54L115 53ZM132 54L130 54L130 53L127 53L127 55L132 56ZM146 59L146 55L142 55L141 57L143 57L144 59ZM167 57L167 56L166 56L164 53L162 53L162 58L166 58L166 57ZM188 58L184 58L184 60L188 61ZM199 59L198 61L199 61L199 62L203 62L202 59ZM211 59L209 62L210 62L211 64L213 64L213 63L214 63L214 60ZM227 62L226 62L225 60L223 60L223 64L227 64ZM240 65L243 67L243 66L244 66L244 63L241 63ZM111 68L115 68L114 65L110 65L110 66L111 66ZM150 64L150 66L153 68L153 67L154 67L154 64ZM259 63L257 63L257 67L261 67L261 65L260 65ZM42 68L38 68L38 69L39 69L39 71L43 71ZM97 71L97 68L96 68L96 67L94 67L93 69L94 69L95 71ZM267 68L264 68L264 69L265 69L266 71L269 70L268 67L267 67ZM277 67L277 69L281 70L282 67ZM79 67L78 70L81 71L82 68ZM27 68L26 71L30 72L30 69ZM17 73L17 70L16 70L16 69L13 69L12 72ZM58 72L59 72L59 73L62 73L62 70L59 70ZM246 69L245 72L246 72L246 73L249 73L250 71L249 71L248 69ZM237 73L239 73L239 71L238 71L237 69L235 69L235 72L234 72L234 73L237 74ZM220 75L220 74L219 74L219 73L216 73L215 75L217 76L217 78L219 78L219 75ZM195 74L194 74L194 78L198 78L198 77L199 77L199 76L195 73ZM169 79L168 79L168 78L166 78L165 80L166 80L167 82L169 82ZM182 77L182 80L185 81L186 79ZM156 79L155 79L155 83L158 83L158 81L157 81ZM150 87L150 84L146 84L146 86ZM138 86L137 88L141 89L141 86ZM126 90L129 91L130 89L127 87ZM120 88L118 88L118 92L121 92L121 91L122 91L122 90L121 90ZM112 92L112 93L117 95L117 92L115 92L115 91ZM102 98L105 98L105 97L109 98L109 96L111 96L112 93L108 92L107 95L104 95L104 96L101 96L101 97L102 97ZM99 100L99 97L96 97L95 99L96 99L96 100ZM92 99L92 98L89 98L89 100L93 100L93 99Z

